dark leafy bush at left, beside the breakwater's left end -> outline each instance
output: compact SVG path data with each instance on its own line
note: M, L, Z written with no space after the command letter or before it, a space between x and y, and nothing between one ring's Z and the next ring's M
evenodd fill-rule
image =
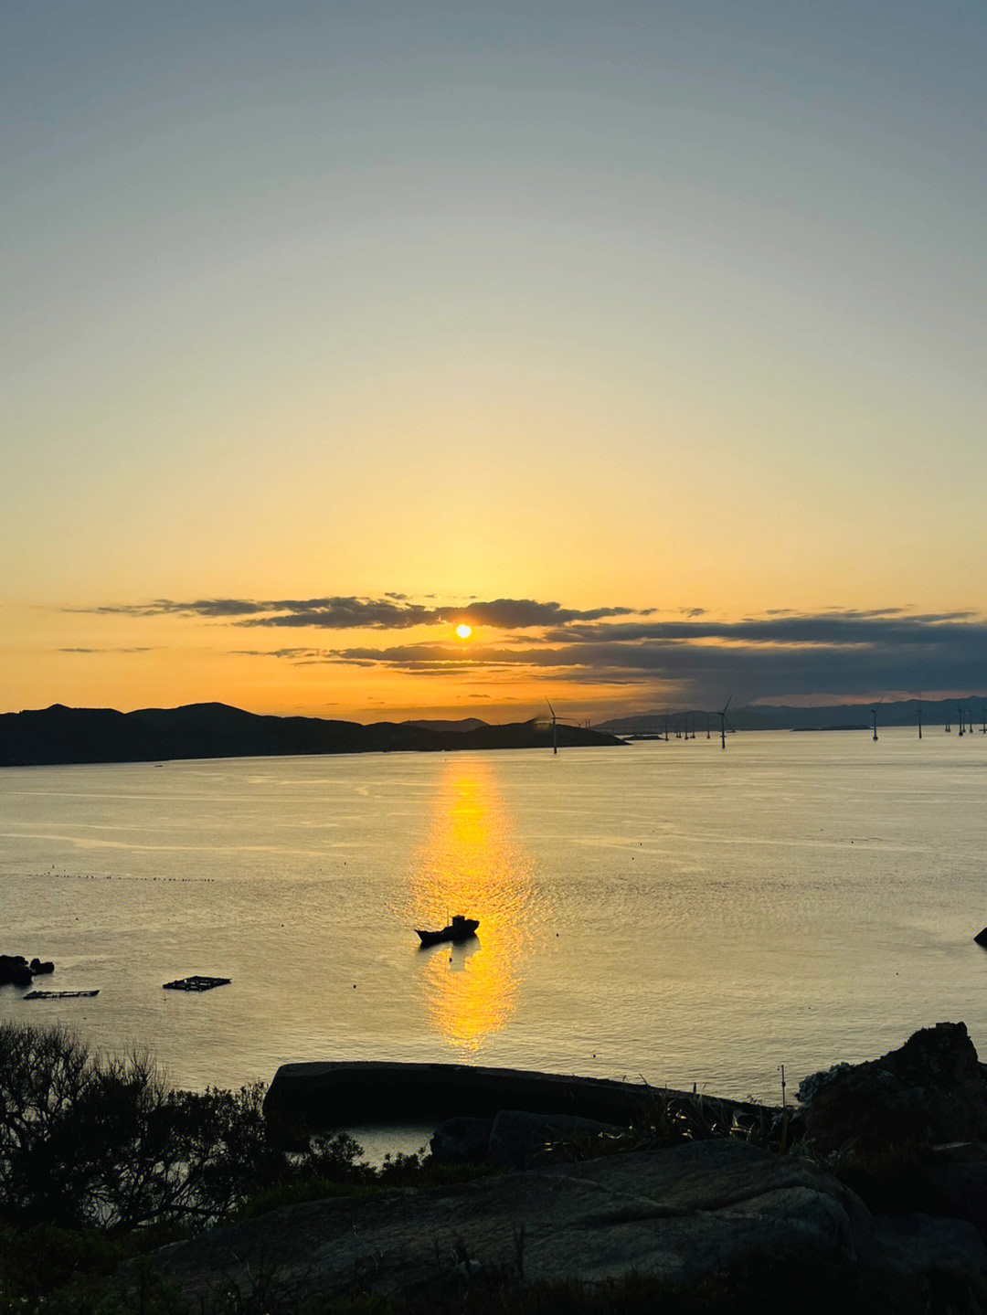
M359 1178L352 1137L289 1159L264 1088L173 1091L142 1052L106 1057L62 1027L0 1024L0 1219L18 1227L205 1224L302 1178Z

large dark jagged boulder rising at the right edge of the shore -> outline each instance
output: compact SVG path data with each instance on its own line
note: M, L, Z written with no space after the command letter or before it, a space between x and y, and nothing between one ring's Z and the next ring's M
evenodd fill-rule
M814 1073L798 1094L823 1153L987 1136L987 1084L963 1023L924 1027L878 1060Z

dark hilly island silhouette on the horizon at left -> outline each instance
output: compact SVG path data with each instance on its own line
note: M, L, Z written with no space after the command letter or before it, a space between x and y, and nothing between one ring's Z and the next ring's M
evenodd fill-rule
M607 731L556 726L560 748L622 744ZM184 757L272 757L304 753L393 753L448 750L551 748L544 719L490 726L463 722L359 722L258 717L226 704L146 707L64 707L0 715L0 767L60 763L154 763Z

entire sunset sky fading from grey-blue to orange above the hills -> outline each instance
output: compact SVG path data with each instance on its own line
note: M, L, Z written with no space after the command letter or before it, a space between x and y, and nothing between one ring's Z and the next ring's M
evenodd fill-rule
M4 5L0 710L987 688L986 66L982 0Z

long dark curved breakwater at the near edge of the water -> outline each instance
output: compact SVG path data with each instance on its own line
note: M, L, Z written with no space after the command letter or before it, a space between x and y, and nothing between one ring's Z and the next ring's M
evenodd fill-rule
M644 1082L482 1068L472 1064L398 1064L338 1060L283 1064L264 1098L275 1145L304 1145L313 1132L393 1123L428 1123L459 1115L493 1118L501 1110L572 1114L628 1126L645 1118L656 1099L694 1101L686 1091ZM774 1112L744 1101L715 1097L724 1118Z

